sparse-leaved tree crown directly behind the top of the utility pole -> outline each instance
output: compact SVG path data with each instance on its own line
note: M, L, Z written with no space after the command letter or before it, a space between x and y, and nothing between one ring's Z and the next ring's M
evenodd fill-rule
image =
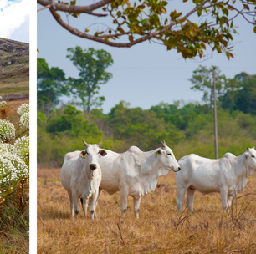
M193 71L192 79L188 79L191 81L193 86L192 90L199 90L203 92L202 100L213 105L213 69L215 69L216 75L216 95L217 98L223 94L224 84L226 82L226 77L224 74L220 74L221 71L216 66L212 66L207 69L206 66L199 65L199 67Z

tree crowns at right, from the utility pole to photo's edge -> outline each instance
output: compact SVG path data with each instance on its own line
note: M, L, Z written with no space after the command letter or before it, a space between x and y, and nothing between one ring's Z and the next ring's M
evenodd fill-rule
M245 114L256 114L256 75L249 75L244 72L237 74L233 79L228 79L221 74L218 67L200 65L193 71L191 89L203 91L202 101L213 104L213 69L216 71L216 98L218 106L223 109L240 110Z

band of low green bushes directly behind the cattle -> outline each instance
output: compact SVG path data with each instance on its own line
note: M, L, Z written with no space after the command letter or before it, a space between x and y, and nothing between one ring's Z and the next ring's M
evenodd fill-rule
M121 101L102 114L93 109L83 114L73 105L63 105L49 115L38 111L38 163L61 166L69 151L82 150L88 143L103 140L105 149L123 152L131 145L153 150L166 140L177 159L184 155L214 158L213 117L208 105L159 104L151 109L129 108ZM256 141L256 118L241 111L218 109L219 156L240 155Z

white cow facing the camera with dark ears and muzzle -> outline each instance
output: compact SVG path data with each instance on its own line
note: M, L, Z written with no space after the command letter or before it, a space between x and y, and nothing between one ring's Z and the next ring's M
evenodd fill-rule
M83 150L78 156L72 156L68 153L64 157L64 165L60 172L60 180L65 190L68 191L70 200L71 215L78 215L78 199L85 200L83 204L84 216L87 216L88 200L90 199L90 218L96 217L96 201L99 195L99 186L101 181L101 170L98 160L105 156L105 150L100 150L100 144L90 145L84 140L86 150ZM70 156L71 155L71 156Z

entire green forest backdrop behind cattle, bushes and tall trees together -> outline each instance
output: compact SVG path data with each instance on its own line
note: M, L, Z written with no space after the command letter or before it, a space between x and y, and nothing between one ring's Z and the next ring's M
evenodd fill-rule
M79 47L68 49L73 53L73 58L70 54L67 57L74 61L76 66L79 61L74 59L74 56L83 53L79 50ZM113 61L111 56L102 50L99 53L90 48L85 53L87 57L90 55L90 64L95 53L98 57L100 55L100 58L105 57L107 64L100 70L98 77L95 73L88 73L88 70L86 75L84 74L87 77L95 75L97 79L83 79L81 73L85 68L78 68L81 74L79 79L66 79L63 70L58 67L49 69L46 61L38 58L39 165L61 166L67 152L84 149L83 139L87 143L103 140L103 148L116 152L124 152L131 145L136 145L144 151L154 150L161 146L161 140L165 140L177 160L191 153L214 158L213 67L207 69L199 66L190 79L191 89L203 91L203 104L161 102L152 105L150 109L141 109L131 108L129 102L121 100L120 104L110 109L109 114L103 114L101 107L105 98L97 98L96 94L100 89L100 82L105 84L111 78L111 74L104 71ZM256 75L241 73L233 79L227 79L218 68L215 69L218 156L222 157L226 152L241 155L247 146L253 147L256 143ZM99 77L104 79L99 81ZM91 80L96 81L90 85ZM83 87L86 87L85 94L81 94ZM93 87L95 89L91 89ZM70 104L58 106L59 96L63 94L70 97L73 95L74 99L88 94L90 97L80 103L78 100L72 100Z

